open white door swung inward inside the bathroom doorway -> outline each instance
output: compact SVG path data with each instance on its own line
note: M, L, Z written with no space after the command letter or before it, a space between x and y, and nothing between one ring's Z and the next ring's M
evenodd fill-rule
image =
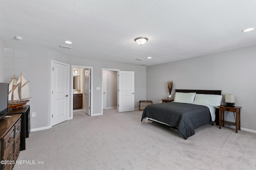
M90 69L85 70L85 113L90 115Z

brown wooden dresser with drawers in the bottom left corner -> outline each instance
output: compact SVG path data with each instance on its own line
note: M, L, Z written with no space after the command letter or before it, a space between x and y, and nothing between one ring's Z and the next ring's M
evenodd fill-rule
M0 119L1 170L11 170L20 154L21 116Z

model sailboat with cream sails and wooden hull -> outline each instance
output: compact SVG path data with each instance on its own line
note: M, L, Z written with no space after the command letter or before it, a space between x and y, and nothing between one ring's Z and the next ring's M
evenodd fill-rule
M21 73L18 80L14 74L9 84L8 108L22 107L29 102L28 82Z

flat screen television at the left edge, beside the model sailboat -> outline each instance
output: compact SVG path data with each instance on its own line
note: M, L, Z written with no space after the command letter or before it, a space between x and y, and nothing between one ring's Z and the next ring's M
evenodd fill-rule
M0 83L0 119L8 113L8 83Z

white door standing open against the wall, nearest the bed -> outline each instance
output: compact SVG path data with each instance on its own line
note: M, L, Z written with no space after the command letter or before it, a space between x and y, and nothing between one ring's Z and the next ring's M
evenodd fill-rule
M134 111L134 71L119 71L118 112Z

